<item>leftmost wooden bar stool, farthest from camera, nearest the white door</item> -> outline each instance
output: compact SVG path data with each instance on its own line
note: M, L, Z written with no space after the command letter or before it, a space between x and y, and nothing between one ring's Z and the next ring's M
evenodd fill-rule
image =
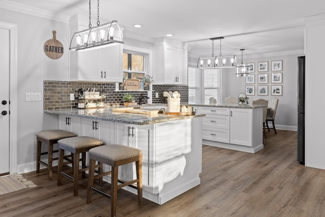
M53 144L57 143L58 140L63 138L69 138L69 137L75 137L77 134L69 132L69 131L63 131L63 130L49 130L49 131L43 131L38 134L36 134L36 140L37 140L37 163L36 163L36 172L40 173L40 164L47 167L48 170L48 178L52 179L52 162L54 160L57 160L58 158L53 158ZM42 143L45 143L48 145L48 151L42 152ZM57 152L58 150L55 150L54 152ZM45 163L44 161L41 161L41 156L47 154L48 163Z

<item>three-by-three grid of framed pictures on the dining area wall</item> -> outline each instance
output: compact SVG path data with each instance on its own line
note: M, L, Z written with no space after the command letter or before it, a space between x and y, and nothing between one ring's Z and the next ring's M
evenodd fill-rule
M245 77L247 96L282 96L283 61L248 63L250 74Z

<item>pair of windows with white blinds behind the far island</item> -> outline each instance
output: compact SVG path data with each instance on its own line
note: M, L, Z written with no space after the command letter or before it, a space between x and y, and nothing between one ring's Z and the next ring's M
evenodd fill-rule
M188 66L188 103L209 104L211 97L220 101L220 69Z

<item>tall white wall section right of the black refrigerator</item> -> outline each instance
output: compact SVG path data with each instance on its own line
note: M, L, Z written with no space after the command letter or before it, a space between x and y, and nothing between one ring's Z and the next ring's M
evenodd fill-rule
M325 169L325 101L322 100L325 80L325 15L308 17L306 26L305 163L308 167Z

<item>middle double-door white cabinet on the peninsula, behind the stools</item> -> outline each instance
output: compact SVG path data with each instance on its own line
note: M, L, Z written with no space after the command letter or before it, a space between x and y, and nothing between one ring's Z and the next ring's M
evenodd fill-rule
M81 118L81 136L100 139L105 145L114 144L114 122Z

